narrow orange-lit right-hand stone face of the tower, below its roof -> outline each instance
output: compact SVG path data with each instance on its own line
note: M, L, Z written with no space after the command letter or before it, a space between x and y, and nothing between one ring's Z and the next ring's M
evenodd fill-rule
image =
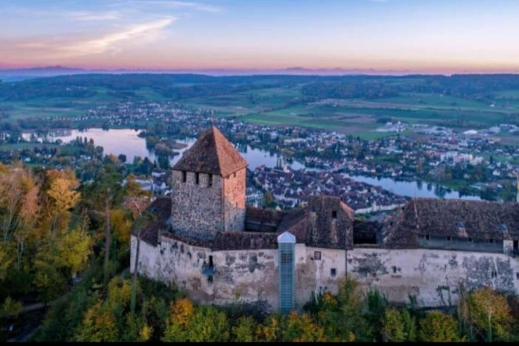
M245 228L245 175L244 168L223 178L224 230L242 231Z

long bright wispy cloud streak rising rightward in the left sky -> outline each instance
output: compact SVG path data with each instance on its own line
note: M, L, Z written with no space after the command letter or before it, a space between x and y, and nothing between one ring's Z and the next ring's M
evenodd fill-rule
M70 58L117 52L127 43L132 45L155 39L163 30L175 21L175 18L163 18L140 24L122 27L118 31L105 33L97 37L38 37L21 43L4 43L5 53L36 54L41 58ZM0 52L2 50L0 49Z

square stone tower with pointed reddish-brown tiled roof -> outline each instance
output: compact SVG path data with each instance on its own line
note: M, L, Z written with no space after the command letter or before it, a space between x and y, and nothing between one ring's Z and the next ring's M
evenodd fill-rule
M233 144L207 130L173 167L172 229L203 239L244 230L246 172Z

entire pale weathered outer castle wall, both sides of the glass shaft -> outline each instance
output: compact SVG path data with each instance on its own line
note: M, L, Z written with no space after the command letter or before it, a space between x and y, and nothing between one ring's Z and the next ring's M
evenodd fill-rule
M165 236L159 240L157 246L141 242L142 275L176 284L197 303L248 302L269 311L278 309L277 249L212 251ZM134 244L132 236L131 269ZM320 252L320 260L315 258L316 252ZM202 272L209 256L214 265L212 280ZM409 303L409 296L415 296L422 307L454 305L460 284L468 290L491 286L519 292L519 261L505 254L380 248L354 248L346 253L296 244L296 307L302 308L312 291L336 293L346 272L365 290L376 288L390 301L401 303Z

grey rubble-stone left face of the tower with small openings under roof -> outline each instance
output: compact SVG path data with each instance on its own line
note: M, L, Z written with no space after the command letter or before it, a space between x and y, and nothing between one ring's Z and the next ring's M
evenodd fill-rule
M209 174L199 173L196 184L196 173L186 172L183 182L182 171L173 171L172 226L175 230L199 233L201 237L211 236L223 230L221 176L212 175L212 186L209 186Z

